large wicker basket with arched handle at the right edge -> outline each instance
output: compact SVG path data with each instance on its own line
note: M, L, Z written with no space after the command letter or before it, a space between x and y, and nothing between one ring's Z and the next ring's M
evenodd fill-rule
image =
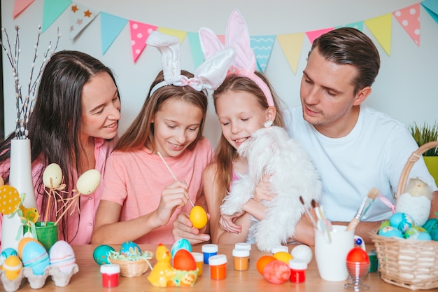
M397 188L397 198L404 193L409 172L421 155L438 146L438 141L424 144L409 157ZM373 233L383 281L411 290L438 288L438 242L383 237Z

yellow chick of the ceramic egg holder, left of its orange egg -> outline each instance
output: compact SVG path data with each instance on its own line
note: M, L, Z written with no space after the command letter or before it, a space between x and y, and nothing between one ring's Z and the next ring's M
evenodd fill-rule
M150 284L153 284L153 286L156 287L171 286L168 284L176 272L170 263L172 256L169 249L163 244L158 244L155 258L157 258L157 263L154 265L148 276Z

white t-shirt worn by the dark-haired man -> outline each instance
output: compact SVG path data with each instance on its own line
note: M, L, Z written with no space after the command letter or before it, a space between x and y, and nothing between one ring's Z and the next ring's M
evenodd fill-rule
M407 127L385 113L360 106L358 123L346 136L332 139L320 134L302 115L302 107L285 111L286 127L311 156L323 182L320 204L330 221L350 221L371 188L378 188L392 204L402 169L418 146ZM409 177L426 181L437 190L424 160ZM362 221L388 219L391 209L375 200Z

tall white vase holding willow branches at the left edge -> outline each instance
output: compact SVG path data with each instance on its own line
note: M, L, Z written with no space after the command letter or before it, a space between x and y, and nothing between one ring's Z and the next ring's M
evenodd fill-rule
M34 181L32 180L31 150L29 139L13 139L10 141L10 174L9 185L17 189L20 195L26 194L23 206L36 208ZM18 249L22 234L20 217L15 214L12 218L3 216L1 224L1 250L8 247Z

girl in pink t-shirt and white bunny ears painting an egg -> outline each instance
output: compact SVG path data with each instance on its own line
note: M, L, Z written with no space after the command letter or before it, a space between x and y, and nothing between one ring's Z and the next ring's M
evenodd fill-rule
M202 136L205 89L216 89L222 83L234 54L232 50L227 56L220 54L219 60L225 61L222 68L218 62L206 62L193 75L179 69L177 38L153 32L148 45L162 53L163 71L107 161L93 244L128 240L172 244L181 235L190 234L209 239L205 228L197 230L188 223L184 230L176 230L180 227L174 228L173 223L178 214L188 218L192 208L189 200L199 204L203 195L202 172L213 158L213 148Z

